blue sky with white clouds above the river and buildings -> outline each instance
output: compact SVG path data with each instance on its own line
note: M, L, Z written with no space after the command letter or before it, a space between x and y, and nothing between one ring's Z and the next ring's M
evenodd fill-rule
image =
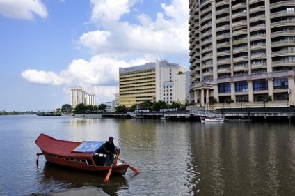
M168 59L189 70L184 0L0 0L0 110L49 111L81 86L118 93L120 67Z

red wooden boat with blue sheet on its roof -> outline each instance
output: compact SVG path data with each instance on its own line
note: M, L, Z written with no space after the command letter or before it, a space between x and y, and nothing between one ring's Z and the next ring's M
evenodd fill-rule
M104 174L111 170L112 174L124 175L128 167L134 172L136 171L122 160L123 163L118 163L120 154L114 155L113 165L104 166L106 160L106 154L102 150L104 143L98 141L72 142L58 140L43 133L35 140L35 144L42 151L42 153L37 153L37 156L44 155L49 163ZM116 148L118 149L117 146ZM139 173L137 172L136 174Z

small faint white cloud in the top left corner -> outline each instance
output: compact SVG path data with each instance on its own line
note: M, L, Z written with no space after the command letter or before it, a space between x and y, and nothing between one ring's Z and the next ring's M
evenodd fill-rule
M0 0L0 15L16 19L33 20L34 15L47 17L47 9L40 0Z

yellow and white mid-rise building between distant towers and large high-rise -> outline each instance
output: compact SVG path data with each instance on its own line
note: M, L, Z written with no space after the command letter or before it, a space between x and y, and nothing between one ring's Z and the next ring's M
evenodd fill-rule
M168 61L119 68L119 104L131 107L144 101L158 100L186 103L189 100L186 81L189 81L189 74L184 68Z

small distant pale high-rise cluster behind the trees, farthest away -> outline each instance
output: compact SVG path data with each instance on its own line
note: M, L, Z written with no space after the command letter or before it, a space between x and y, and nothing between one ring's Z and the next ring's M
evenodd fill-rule
M79 103L83 103L85 105L95 105L95 95L86 93L80 87L71 89L72 107L76 107Z

